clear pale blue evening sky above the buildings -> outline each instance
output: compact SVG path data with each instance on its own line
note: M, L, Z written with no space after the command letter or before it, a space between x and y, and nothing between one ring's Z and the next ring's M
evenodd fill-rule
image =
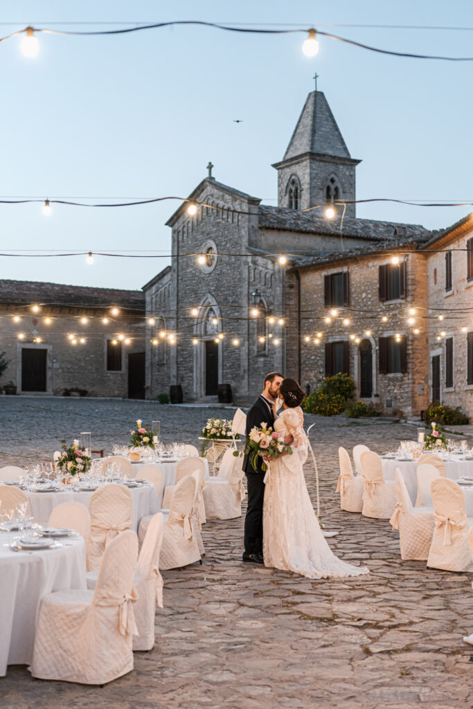
M28 23L179 19L321 29L327 23L473 28L473 3L17 1L2 7L0 21L12 24L0 30L6 35ZM394 50L473 54L471 31L333 31ZM308 59L301 52L303 40L196 27L112 38L39 35L34 60L23 57L17 39L0 44L0 196L89 201L186 196L211 160L216 179L276 204L271 163L282 159L318 72L318 88L352 157L363 161L357 168L358 199L472 201L473 62L382 57L328 39ZM243 122L233 123L235 118ZM176 207L174 202L103 211L55 206L45 217L38 204L0 205L1 248L166 252L165 221ZM468 211L388 203L360 206L357 216L444 228ZM0 277L134 289L165 264L98 258L89 266L84 257L0 257Z

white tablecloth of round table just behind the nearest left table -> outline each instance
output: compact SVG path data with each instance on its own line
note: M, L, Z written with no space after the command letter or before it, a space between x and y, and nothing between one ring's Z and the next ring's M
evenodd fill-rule
M106 483L105 483L106 484ZM71 485L71 490L65 492L31 492L26 490L31 505L31 512L35 522L47 524L52 509L62 502L80 502L89 508L93 492L81 491L77 486ZM145 515L154 515L161 511L161 501L158 498L154 485L143 485L138 488L129 488L131 493L131 529L138 532L140 519Z

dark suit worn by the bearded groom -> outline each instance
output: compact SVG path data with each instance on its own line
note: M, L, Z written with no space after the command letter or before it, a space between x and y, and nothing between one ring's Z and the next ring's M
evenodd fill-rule
M274 426L274 413L270 402L262 396L258 396L252 404L246 416L246 437L250 435L250 430L262 423ZM257 471L250 463L250 457L243 458L243 470L246 474L248 489L248 506L245 517L245 554L263 553L263 500L265 497L265 484L263 479L265 471L262 469L262 458L257 459Z

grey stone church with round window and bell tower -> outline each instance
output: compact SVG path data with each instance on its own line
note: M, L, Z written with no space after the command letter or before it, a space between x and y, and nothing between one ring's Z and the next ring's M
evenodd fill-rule
M272 166L278 206L221 184L209 163L208 177L167 221L171 266L143 286L152 323L146 357L150 398L180 385L184 401L215 401L218 386L226 384L235 401L245 401L272 370L304 386L316 383L318 377L304 371L301 341L308 315L301 312L299 264L306 268L314 255L369 252L430 235L418 226L357 219L355 203L343 212L337 202L355 200L359 162L325 95L312 91L283 159ZM197 206L192 216L189 203ZM281 263L281 255L288 262ZM311 308L324 308L323 298Z

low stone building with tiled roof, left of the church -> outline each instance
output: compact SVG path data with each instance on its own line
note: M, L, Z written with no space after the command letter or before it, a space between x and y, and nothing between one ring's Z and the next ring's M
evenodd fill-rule
M0 390L145 398L141 291L0 281Z

